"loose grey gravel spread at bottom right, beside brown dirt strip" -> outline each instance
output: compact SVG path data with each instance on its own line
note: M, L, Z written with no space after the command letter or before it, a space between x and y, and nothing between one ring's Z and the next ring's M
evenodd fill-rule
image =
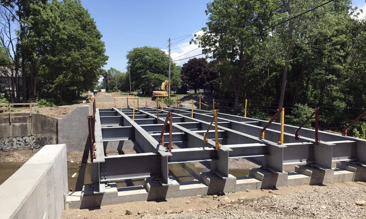
M206 210L183 211L180 214L148 215L144 218L366 218L366 206L356 201L366 199L365 187L311 187L290 195L276 195L260 199L235 200L230 204ZM219 197L223 200L223 197ZM223 202L224 203L224 202Z

